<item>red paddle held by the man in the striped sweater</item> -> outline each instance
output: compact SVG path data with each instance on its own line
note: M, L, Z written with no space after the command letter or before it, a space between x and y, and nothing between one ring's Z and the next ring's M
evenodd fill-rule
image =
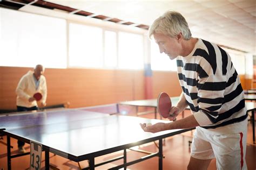
M167 93L160 93L157 98L157 110L161 116L164 118L168 118L169 116L174 116L170 114L170 110L172 108L172 101L169 95ZM173 119L173 121L176 121L176 118Z

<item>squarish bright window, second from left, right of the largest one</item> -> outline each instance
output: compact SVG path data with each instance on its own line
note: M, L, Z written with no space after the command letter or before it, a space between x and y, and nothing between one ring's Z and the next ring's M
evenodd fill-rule
M103 67L103 30L69 24L69 66Z

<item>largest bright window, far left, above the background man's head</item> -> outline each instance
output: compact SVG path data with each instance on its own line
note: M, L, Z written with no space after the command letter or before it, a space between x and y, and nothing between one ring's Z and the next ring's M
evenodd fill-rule
M66 67L64 19L0 8L0 65Z

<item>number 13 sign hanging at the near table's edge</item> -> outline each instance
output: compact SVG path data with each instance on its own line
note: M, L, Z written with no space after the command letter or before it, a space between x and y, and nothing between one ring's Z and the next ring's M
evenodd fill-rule
M41 167L42 145L30 141L30 170L39 170Z

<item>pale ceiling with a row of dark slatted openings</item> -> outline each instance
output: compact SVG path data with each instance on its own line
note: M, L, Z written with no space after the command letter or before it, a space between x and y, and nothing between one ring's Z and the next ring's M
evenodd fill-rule
M22 10L25 5L26 12L29 12L30 5L53 11L58 9L71 15L98 18L142 29L148 29L153 20L165 11L175 10L186 18L193 37L256 55L255 0L14 0L1 3L4 7L17 10Z

